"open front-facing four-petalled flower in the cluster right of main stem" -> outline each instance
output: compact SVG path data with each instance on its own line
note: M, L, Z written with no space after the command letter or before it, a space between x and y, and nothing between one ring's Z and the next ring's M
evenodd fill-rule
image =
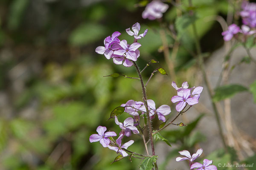
M183 95L182 96L173 96L171 101L173 103L178 102L178 104L176 105L176 110L178 112L180 112L185 108L186 104L189 104L191 106L197 104L198 103L198 97L195 97L195 96L191 97L190 96L190 89L183 89Z

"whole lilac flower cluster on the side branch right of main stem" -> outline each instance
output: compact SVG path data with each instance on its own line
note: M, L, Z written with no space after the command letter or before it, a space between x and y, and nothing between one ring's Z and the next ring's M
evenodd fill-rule
M175 82L172 82L172 87L174 87L177 90L177 96L172 97L172 102L178 104L176 105L176 110L178 112L182 111L186 105L195 105L198 103L198 100L200 98L200 94L203 91L203 87L192 87L189 88L188 82L183 82L181 88L178 88ZM191 94L191 90L192 91Z

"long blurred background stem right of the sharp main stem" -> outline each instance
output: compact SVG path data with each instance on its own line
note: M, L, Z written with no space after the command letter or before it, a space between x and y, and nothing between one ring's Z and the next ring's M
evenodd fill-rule
M192 7L192 0L189 0L189 6ZM191 12L191 14L193 14L193 11L190 11L190 12ZM218 124L218 130L219 130L219 133L220 133L220 136L221 136L221 139L222 139L222 143L224 145L225 150L227 150L227 145L226 145L223 130L222 130L222 127L221 127L220 116L219 116L216 104L212 100L212 96L213 96L212 89L210 87L210 83L208 82L207 75L206 75L206 72L205 72L204 59L203 59L203 56L201 54L201 47L200 47L200 43L199 43L199 38L198 38L198 33L197 33L197 30L196 30L195 22L192 23L192 29L193 29L193 33L195 35L195 45L196 45L196 50L197 50L197 54L198 54L199 67L200 67L201 72L203 74L204 83L207 86L207 90L208 90L208 93L209 93L209 96L210 96L210 99L211 99L212 108L213 108L213 111L215 113L215 118L216 118L216 121L217 121L217 124Z

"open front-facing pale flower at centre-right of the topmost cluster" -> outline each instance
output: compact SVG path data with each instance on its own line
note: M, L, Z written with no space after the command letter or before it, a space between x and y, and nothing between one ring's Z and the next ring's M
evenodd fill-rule
M115 55L122 56L125 54L126 59L137 61L138 53L135 51L141 46L140 43L134 42L131 45L128 45L126 40L122 40L119 42L119 45L121 48L117 51L114 51Z

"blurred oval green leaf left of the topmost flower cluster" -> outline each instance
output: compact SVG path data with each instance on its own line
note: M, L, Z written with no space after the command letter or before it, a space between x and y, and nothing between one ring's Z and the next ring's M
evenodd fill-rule
M106 28L99 24L84 23L78 26L70 35L71 45L80 46L100 40L105 36Z

